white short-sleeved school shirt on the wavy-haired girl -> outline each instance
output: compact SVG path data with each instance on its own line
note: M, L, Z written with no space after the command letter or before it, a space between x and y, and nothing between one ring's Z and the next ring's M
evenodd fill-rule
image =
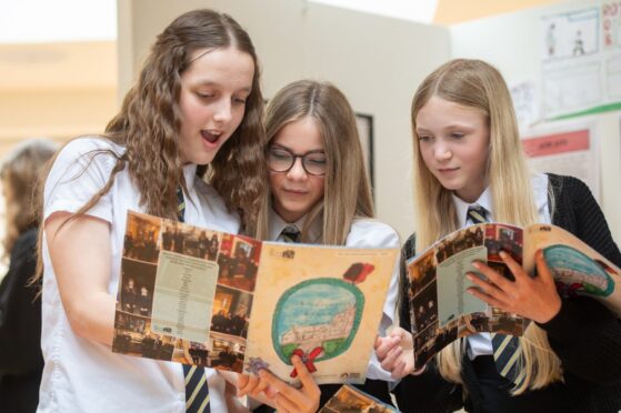
M46 181L44 219L58 211L78 211L108 181L116 159L109 154L97 155L88 164L89 155L83 154L96 149L124 152L122 147L98 138L79 139L64 147ZM189 190L186 222L237 233L238 216L227 212L222 199L196 177L196 164L183 168ZM127 211L143 212L139 201L139 192L126 169L116 175L108 194L87 212L110 223L112 255L108 293L112 296L118 292ZM184 412L181 364L112 353L108 345L77 336L60 300L47 243L43 243L43 264L41 347L46 365L38 411ZM211 369L207 369L207 375L211 411L226 412L223 379Z

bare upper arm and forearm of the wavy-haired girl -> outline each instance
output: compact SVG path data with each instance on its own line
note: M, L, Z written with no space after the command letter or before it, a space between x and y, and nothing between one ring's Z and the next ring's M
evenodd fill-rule
M78 336L111 345L116 299L108 293L110 225L82 215L60 229L69 216L56 212L44 224L62 305Z

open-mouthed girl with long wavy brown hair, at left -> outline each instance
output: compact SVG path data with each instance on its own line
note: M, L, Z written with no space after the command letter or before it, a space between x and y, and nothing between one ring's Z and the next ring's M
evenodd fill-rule
M196 373L197 389L210 391L198 401L180 364L110 345L128 210L233 233L251 224L263 191L262 105L248 33L227 14L194 10L158 36L106 133L59 152L43 190L41 411L233 403L211 369Z

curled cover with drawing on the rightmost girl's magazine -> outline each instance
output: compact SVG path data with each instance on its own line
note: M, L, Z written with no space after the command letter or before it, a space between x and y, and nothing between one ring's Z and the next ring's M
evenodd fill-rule
M542 249L563 298L589 295L621 316L621 272L599 252L568 231L551 224L527 229L524 269L534 273L534 253Z

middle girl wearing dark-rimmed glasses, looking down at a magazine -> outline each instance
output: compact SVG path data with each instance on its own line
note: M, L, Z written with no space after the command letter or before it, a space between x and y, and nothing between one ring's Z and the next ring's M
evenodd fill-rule
M302 80L284 87L266 113L269 194L259 211L256 235L358 248L392 248L399 235L373 220L373 202L358 137L355 118L345 97L332 84ZM392 324L398 266L383 309L380 334ZM361 389L391 403L390 374L373 356ZM256 379L242 376L240 392L251 394ZM286 411L315 411L340 385L317 384L290 391ZM278 399L277 399L278 401Z

